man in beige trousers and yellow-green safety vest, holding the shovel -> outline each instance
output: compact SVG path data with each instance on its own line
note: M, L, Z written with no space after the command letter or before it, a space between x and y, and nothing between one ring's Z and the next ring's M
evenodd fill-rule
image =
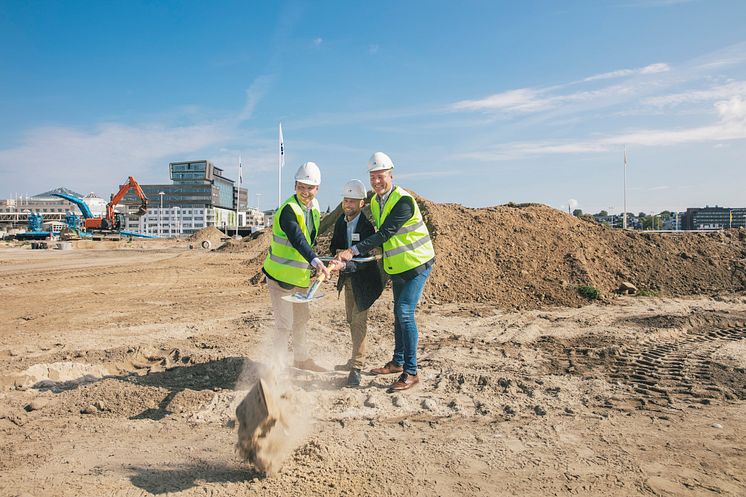
M320 184L321 171L313 162L306 162L295 173L295 194L275 213L269 254L263 267L275 318L275 351L284 356L292 331L293 366L317 372L325 369L316 364L308 353L308 303L288 302L282 297L308 288L311 267L329 277L329 269L314 252L321 219L319 202L316 200Z

